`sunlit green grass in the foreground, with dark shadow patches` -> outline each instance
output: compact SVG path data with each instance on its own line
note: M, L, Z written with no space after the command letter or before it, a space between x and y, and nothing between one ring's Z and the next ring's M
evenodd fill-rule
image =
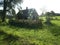
M43 28L21 28L0 23L0 45L60 45L60 20Z

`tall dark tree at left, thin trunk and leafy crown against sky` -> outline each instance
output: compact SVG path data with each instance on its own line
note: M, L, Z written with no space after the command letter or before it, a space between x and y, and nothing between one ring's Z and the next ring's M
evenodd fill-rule
M21 2L22 0L4 0L2 22L5 21L6 11L13 9L16 5L21 4Z

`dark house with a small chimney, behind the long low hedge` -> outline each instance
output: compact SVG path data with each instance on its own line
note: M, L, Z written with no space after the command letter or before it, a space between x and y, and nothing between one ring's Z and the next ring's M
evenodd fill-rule
M21 10L17 13L16 17L18 19L38 19L38 13L35 9L28 9Z

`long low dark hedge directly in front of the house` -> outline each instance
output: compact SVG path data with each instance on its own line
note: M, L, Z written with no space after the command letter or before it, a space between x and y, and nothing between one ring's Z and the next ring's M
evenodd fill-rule
M31 28L42 28L42 21L41 20L9 20L9 24L13 26L19 27L31 27Z

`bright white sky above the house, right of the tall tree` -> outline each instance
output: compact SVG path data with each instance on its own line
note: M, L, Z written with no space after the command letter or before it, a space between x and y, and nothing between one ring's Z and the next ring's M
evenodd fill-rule
M60 0L24 0L22 4L23 9L35 8L39 14L42 11L53 10L56 13L60 13Z

